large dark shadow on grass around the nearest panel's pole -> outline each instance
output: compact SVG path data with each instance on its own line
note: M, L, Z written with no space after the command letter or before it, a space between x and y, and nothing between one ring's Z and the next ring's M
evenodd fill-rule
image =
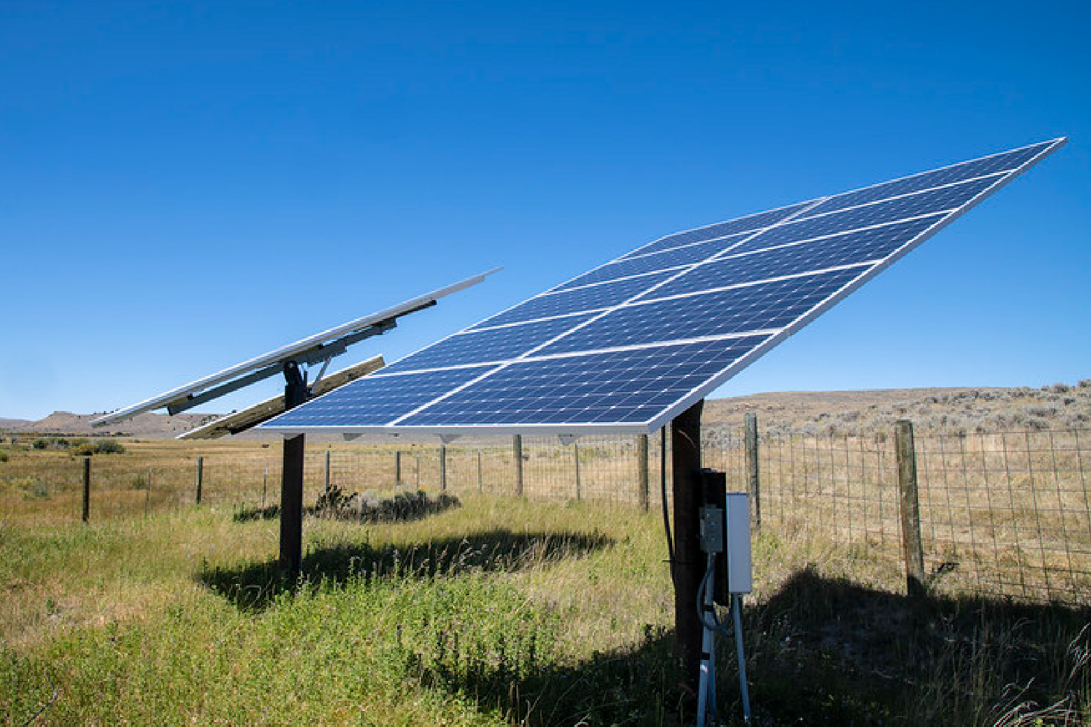
M639 618L639 614L634 614ZM1087 724L1086 609L906 596L806 569L745 609L754 724ZM673 630L572 666L469 669L457 652L411 654L425 683L526 725L687 725ZM723 724L743 724L730 635L717 640Z

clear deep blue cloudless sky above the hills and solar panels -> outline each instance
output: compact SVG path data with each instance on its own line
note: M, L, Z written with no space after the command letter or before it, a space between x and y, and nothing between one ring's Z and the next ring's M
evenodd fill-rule
M115 409L496 265L1067 135L720 395L1091 378L1091 10L0 1L0 416ZM251 390L214 411L277 390Z

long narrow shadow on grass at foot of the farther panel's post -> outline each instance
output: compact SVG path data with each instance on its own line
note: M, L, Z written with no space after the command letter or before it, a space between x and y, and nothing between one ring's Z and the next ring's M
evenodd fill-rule
M600 533L512 532L496 529L459 538L443 538L409 547L367 543L312 547L303 555L299 581L280 577L276 560L215 568L197 578L239 608L261 610L284 591L300 583L344 584L350 578L419 573L457 575L470 570L515 571L529 564L579 557L608 547Z

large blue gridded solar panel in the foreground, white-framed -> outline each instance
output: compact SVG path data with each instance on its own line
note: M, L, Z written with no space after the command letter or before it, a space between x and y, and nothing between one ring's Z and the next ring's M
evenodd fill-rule
M652 432L1065 141L666 235L263 428Z

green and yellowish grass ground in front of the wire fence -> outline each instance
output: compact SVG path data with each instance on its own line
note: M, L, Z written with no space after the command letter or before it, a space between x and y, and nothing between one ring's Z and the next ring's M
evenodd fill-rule
M37 724L675 725L657 512L459 493L409 522L226 505L49 524L0 516L0 715ZM755 541L759 724L1091 724L1087 610L899 595L896 560L813 531ZM721 708L738 718L729 643ZM56 690L56 699L52 699Z

